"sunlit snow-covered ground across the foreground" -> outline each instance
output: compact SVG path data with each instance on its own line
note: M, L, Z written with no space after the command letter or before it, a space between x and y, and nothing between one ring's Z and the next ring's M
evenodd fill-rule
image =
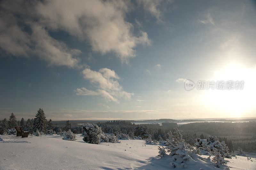
M0 135L0 169L171 168L168 161L156 157L157 145L145 144L143 140L120 140L121 143L97 145L85 143L82 139L80 135L77 135L76 141L62 140L60 135L28 138ZM226 160L230 161L230 169L256 169L255 157L252 161L240 156ZM188 166L186 169L191 168Z

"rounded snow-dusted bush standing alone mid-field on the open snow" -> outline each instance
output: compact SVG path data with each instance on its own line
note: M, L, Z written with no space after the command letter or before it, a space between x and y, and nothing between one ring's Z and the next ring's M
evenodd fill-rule
M82 127L83 140L87 143L100 144L101 128L96 124L85 123Z

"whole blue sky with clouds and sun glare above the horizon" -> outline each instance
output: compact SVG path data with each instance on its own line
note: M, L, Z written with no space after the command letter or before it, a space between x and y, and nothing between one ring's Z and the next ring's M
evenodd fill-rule
M0 16L0 119L256 117L255 1L1 1ZM198 85L228 80L243 88Z

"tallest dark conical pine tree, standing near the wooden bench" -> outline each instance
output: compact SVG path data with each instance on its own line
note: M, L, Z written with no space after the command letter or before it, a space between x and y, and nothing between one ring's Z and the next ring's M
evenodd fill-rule
M47 123L47 120L46 120L44 111L43 109L39 108L39 110L36 113L36 118L34 119L33 130L36 131L36 129L38 129L39 132L45 132L46 123Z

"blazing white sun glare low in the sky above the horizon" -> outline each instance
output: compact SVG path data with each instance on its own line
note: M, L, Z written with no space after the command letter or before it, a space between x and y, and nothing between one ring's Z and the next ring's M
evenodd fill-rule
M239 64L226 66L214 72L210 81L244 81L240 90L211 90L205 93L205 103L213 110L225 116L243 117L246 112L255 109L256 67L245 68Z

